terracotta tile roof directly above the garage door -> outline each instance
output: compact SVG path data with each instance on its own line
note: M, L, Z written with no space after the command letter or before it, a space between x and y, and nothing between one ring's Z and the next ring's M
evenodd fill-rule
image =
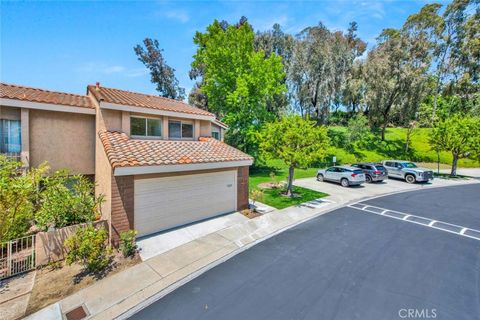
M117 131L101 131L99 136L112 168L253 160L248 154L213 138L140 140Z

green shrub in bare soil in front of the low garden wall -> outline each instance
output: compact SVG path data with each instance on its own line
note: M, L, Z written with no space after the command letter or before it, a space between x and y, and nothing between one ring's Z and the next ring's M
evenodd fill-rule
M93 225L79 228L65 240L68 251L67 264L82 264L89 272L98 272L109 264L110 247L107 245L108 233L104 227L96 229Z

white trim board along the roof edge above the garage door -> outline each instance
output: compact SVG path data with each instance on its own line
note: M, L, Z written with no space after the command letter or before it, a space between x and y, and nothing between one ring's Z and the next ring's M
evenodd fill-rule
M114 176L130 176L136 174L165 173L165 172L182 172L209 170L232 167L251 166L253 160L242 161L225 161L225 162L207 162L207 163L191 163L191 164L170 164L159 166L141 166L141 167L120 167L115 168Z

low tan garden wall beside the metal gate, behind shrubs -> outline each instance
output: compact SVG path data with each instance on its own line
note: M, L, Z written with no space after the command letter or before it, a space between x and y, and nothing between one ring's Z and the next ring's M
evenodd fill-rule
M83 228L86 225L83 223L54 231L37 233L35 235L35 260L37 267L65 259L67 251L63 246L63 242L75 233L78 228ZM96 221L93 225L95 227L104 226L108 231L106 220Z

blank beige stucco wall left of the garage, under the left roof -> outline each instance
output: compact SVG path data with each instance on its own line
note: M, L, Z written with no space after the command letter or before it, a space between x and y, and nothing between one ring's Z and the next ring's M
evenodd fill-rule
M30 109L30 165L95 173L95 116Z

